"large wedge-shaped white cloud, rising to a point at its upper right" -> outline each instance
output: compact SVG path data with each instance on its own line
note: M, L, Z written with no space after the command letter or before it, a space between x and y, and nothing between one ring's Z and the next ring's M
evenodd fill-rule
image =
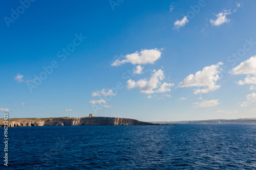
M194 94L198 93L208 93L209 91L214 91L220 88L220 85L217 85L216 82L220 79L222 62L219 62L216 65L211 65L204 67L202 71L196 72L195 75L187 76L183 82L180 82L178 87L204 87L204 89L197 89L194 91Z

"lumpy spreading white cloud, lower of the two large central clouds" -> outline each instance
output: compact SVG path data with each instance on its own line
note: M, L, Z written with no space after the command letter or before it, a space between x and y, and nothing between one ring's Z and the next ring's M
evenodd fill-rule
M154 72L154 71L153 71ZM127 88L131 89L131 88L135 88L135 87L139 87L140 88L140 92L141 93L146 93L146 94L151 94L154 92L166 92L166 91L170 91L169 87L174 86L173 83L161 83L161 81L164 79L164 74L163 71L161 69L159 69L158 71L154 72L154 74L152 74L150 80L147 79L141 79L137 82L135 82L134 80L128 80L127 81ZM160 86L160 88L159 88ZM154 89L158 88L156 91L154 91Z

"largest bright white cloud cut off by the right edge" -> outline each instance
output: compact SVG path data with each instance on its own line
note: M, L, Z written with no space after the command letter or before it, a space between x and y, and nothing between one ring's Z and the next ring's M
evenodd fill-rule
M230 71L233 75L247 75L244 80L239 80L237 84L256 84L256 56L240 63ZM253 76L251 76L253 75ZM251 87L250 87L251 88Z

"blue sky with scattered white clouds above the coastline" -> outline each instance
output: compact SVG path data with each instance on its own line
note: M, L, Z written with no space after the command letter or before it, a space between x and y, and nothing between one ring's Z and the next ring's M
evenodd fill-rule
M256 117L255 6L5 1L0 112L143 121Z

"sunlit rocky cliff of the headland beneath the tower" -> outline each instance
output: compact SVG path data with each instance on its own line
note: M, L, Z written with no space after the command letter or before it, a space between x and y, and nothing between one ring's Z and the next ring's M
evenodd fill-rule
M139 120L130 118L119 118L119 117L82 117L82 118L49 118L41 120L31 119L15 119L8 120L8 127L24 127L24 126L77 126L77 125L161 125L152 124L146 122L140 122ZM0 125L4 127L4 125Z

